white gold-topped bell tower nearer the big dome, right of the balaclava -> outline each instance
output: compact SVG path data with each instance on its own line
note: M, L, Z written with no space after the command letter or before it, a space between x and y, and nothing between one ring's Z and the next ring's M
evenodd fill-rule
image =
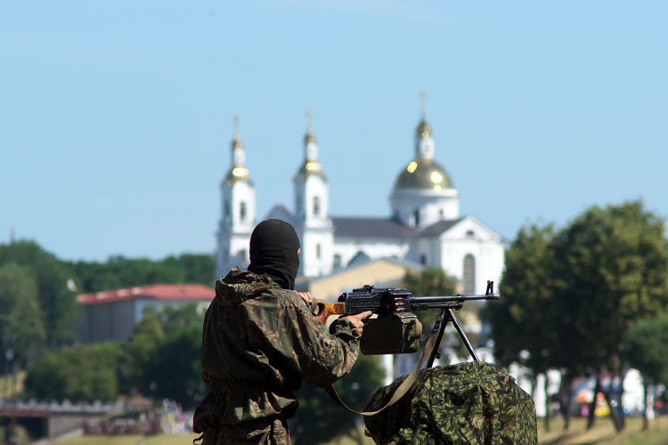
M293 179L295 185L295 219L301 240L299 274L307 277L329 275L332 270L334 226L330 214L330 188L318 162L318 145L311 124L312 112L304 136L304 162Z

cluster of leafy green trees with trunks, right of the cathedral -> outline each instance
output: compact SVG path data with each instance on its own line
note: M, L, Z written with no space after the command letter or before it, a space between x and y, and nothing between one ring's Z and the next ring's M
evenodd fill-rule
M500 292L484 312L497 363L522 364L534 381L560 370L566 428L577 377L594 377L594 394L617 407L617 431L622 394L602 376L622 382L637 368L646 392L648 384L668 383L668 242L664 220L641 201L591 206L560 230L523 227L506 252ZM549 414L545 422L549 428Z

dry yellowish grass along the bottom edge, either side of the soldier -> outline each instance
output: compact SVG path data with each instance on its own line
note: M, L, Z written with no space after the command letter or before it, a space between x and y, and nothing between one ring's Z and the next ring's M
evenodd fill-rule
M553 420L550 432L542 428L542 419L538 420L538 442L540 445L668 445L668 417L656 417L649 423L648 431L641 431L642 419L627 417L626 428L622 433L615 433L612 422L607 418L599 418L590 431L585 429L586 421L582 418L571 419L567 432L563 423ZM77 436L57 445L185 445L192 443L196 434L162 434L159 436ZM373 445L373 441L365 438L365 444ZM350 438L339 438L328 445L355 445Z

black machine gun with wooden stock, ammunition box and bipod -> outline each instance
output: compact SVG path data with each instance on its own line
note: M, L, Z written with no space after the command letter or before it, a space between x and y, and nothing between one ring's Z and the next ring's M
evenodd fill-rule
M494 294L494 282L487 281L485 294L480 295L446 295L446 296L413 296L406 289L392 287L382 288L366 285L353 292L345 292L338 297L337 303L317 302L315 317L325 323L331 315L354 315L371 311L376 318L364 319L364 332L360 342L363 354L395 354L416 352L420 347L422 325L418 317L411 311L441 309L436 318L433 332L437 333L436 345L440 344L445 325L452 325L459 333L468 352L474 360L478 360L476 352L468 342L467 336L454 318L452 309L460 310L465 302L476 300L498 300ZM428 367L439 358L437 347L431 353Z

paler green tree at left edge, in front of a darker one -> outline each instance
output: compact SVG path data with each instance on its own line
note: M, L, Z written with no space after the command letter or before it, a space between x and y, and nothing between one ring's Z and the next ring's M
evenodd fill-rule
M0 265L0 362L22 368L44 340L34 276L15 262Z

